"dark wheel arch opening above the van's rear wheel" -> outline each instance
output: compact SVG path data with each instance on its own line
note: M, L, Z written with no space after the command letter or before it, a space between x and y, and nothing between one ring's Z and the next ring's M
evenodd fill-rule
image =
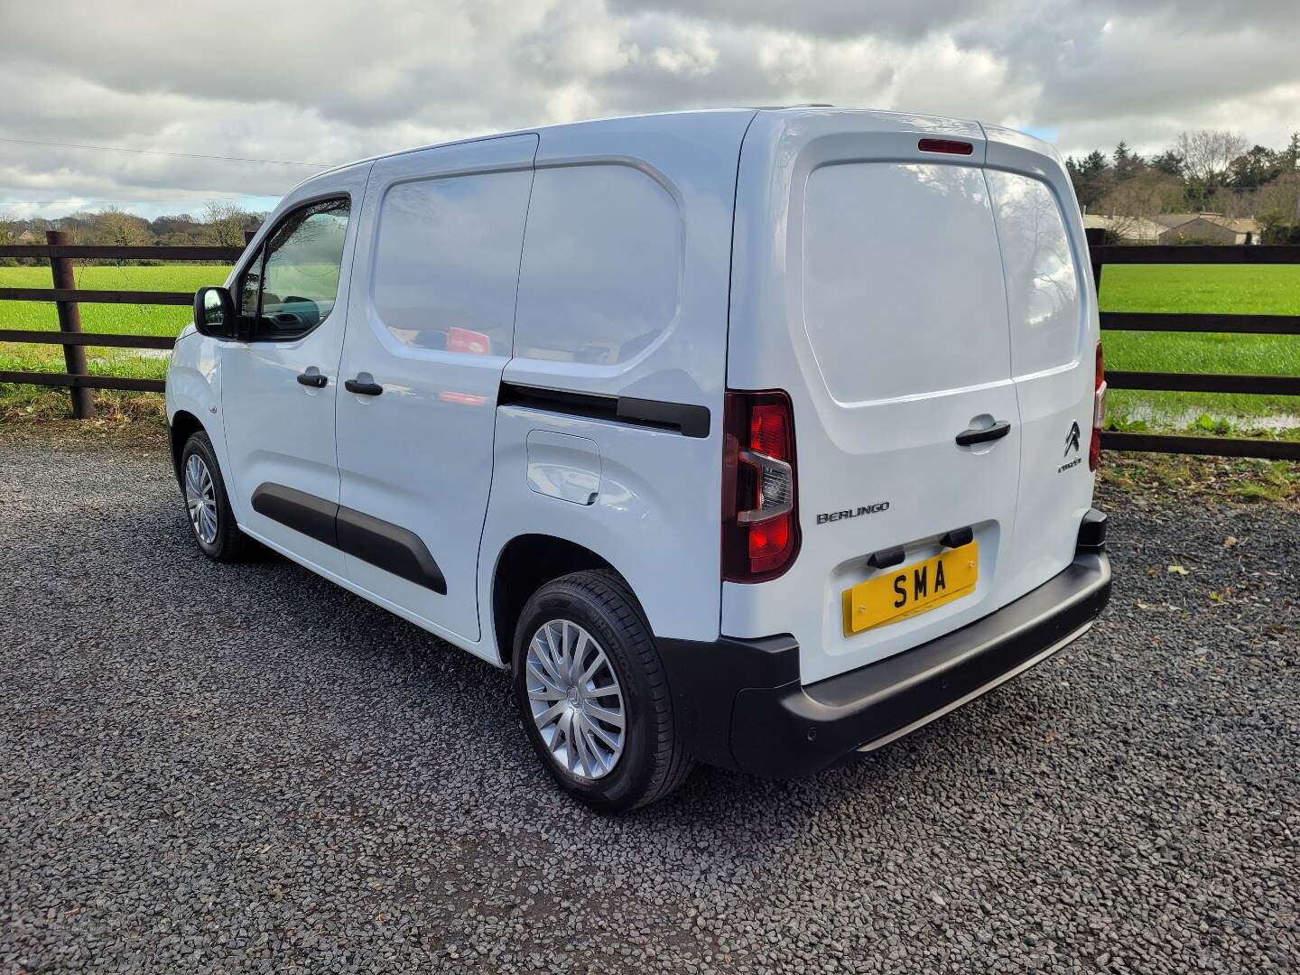
M632 589L607 559L567 538L520 534L502 547L493 569L491 624L503 664L508 667L515 654L515 625L528 598L551 580L584 569L611 572Z

